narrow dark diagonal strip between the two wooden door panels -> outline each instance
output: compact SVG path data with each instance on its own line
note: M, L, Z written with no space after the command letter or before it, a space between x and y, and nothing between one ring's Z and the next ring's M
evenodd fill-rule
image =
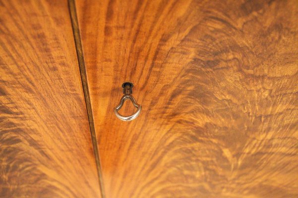
M87 108L89 127L90 127L90 132L91 132L93 152L94 152L95 161L96 161L100 192L101 192L101 197L105 198L102 172L101 172L101 164L100 164L100 156L99 156L98 147L97 147L96 132L95 132L95 126L94 126L94 120L93 120L93 114L92 114L92 106L91 106L88 83L87 83L86 67L85 67L85 61L84 61L84 56L83 56L83 49L82 49L82 43L81 43L81 37L80 37L80 32L79 32L78 19L77 19L74 0L68 0L68 8L69 8L69 13L70 13L73 37L74 37L74 42L75 42L75 49L76 49L76 53L77 53L78 64L79 64L80 74L81 74L81 81L82 81L82 86L83 86L83 92L84 92L85 103L86 103L86 108Z

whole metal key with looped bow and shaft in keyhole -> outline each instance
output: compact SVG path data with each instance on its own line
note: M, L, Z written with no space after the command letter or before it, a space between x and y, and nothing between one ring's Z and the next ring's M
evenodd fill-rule
M142 106L140 104L138 104L135 99L133 98L133 96L131 95L132 94L132 83L129 83L129 82L126 82L126 83L123 83L122 84L122 87L123 87L123 96L122 98L120 99L119 101L119 104L114 108L114 113L116 114L116 116L120 119L120 120L123 120L123 121L130 121L130 120L133 120L135 119L137 116L139 116L139 114L141 113L141 110L142 110ZM130 99L132 104L137 108L136 112L132 115L128 115L128 116L124 116L124 115L121 115L118 111L119 109L123 106L124 104L124 101L126 99Z

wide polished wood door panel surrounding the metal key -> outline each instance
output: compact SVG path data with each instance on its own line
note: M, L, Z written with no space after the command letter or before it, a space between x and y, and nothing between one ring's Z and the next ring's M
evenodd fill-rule
M76 7L107 198L298 197L297 0Z

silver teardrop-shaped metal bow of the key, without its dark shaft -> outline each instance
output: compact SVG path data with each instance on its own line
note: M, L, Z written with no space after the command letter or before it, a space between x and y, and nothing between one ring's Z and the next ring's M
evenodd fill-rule
M132 104L137 108L136 112L132 115L128 115L128 116L124 116L119 114L119 109L123 106L123 103L126 99L130 99ZM130 121L135 119L137 116L139 116L140 112L142 110L142 106L140 104L138 104L135 99L133 98L133 96L131 94L124 94L122 96L122 98L120 99L119 104L114 108L114 112L116 114L116 116L123 121Z

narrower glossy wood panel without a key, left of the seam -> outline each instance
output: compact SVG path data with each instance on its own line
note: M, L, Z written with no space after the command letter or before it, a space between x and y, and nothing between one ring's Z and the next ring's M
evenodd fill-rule
M99 198L66 0L0 1L0 197Z

